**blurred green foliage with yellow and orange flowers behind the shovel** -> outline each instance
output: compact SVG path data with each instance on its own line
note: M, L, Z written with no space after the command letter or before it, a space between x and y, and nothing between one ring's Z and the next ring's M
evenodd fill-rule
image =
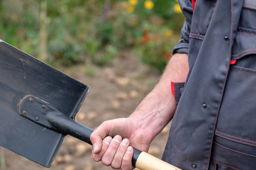
M0 0L0 39L48 63L108 64L124 49L163 70L180 37L176 0Z

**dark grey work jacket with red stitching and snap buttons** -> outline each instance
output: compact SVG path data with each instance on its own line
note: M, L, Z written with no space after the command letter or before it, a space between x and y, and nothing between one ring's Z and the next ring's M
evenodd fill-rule
M192 2L194 7L192 7ZM180 0L187 18L174 53L185 83L163 160L181 169L256 169L256 1Z

